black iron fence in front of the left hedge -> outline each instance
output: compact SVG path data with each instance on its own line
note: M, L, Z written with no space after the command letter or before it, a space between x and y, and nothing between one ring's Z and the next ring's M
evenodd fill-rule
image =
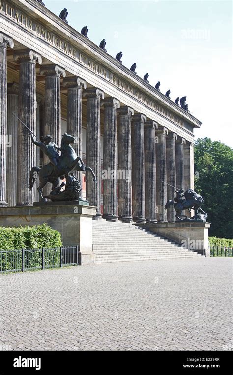
M0 273L78 265L76 246L41 249L0 249Z

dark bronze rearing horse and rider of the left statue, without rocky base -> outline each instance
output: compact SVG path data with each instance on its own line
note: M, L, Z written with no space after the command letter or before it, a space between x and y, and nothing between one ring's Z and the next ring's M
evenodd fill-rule
M52 190L58 186L58 178L72 174L74 171L90 171L93 176L93 181L96 182L96 176L90 167L86 167L81 157L76 155L75 150L70 145L75 141L75 138L67 133L62 136L61 147L51 142L51 136L46 136L44 142L35 141L31 134L32 142L39 146L40 149L49 157L50 162L44 165L42 168L33 167L30 170L29 177L29 190L33 188L36 181L37 173L39 174L39 187L37 188L40 196L40 201L44 201L45 198L42 195L42 188L50 182L52 183ZM55 151L54 148L61 150L61 155Z

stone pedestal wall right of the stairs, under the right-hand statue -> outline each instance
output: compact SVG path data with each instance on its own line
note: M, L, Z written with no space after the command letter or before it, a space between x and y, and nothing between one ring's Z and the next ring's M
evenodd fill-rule
M167 237L182 245L185 249L210 257L208 230L206 222L146 223L139 225L150 231Z

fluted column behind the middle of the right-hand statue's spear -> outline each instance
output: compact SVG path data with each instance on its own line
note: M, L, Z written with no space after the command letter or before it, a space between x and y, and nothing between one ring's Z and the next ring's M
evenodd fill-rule
M167 165L167 183L176 186L176 172L175 172L175 140L177 134L169 132L166 137L166 165ZM173 199L175 190L167 185L167 200ZM168 222L175 222L175 210L173 206L167 209Z

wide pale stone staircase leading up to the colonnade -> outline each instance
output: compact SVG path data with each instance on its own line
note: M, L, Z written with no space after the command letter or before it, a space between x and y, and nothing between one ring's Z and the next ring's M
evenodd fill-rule
M165 237L120 221L93 220L93 246L96 263L201 257Z

